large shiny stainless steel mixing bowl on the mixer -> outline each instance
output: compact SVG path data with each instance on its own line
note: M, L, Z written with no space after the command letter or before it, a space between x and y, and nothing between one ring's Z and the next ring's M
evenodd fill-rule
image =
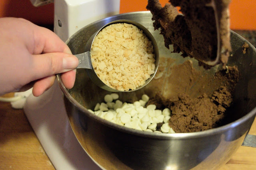
M172 59L170 61L173 62L168 65L186 61L180 54L170 53L172 47L170 50L164 47L162 35L152 27L151 17L150 12L134 12L105 18L80 29L67 44L73 54L83 53L88 38L106 23L120 19L134 20L155 37L160 59ZM228 65L238 66L240 78L233 94L234 104L228 110L230 123L201 132L160 134L116 125L87 110L102 102L103 96L110 92L94 85L85 70L77 70L75 86L71 90L64 88L58 75L68 119L81 146L101 168L108 170L219 168L241 146L256 114L256 49L249 43L246 54L243 54L244 42L247 41L231 31L233 52ZM217 69L204 70L197 66L196 61L193 63L202 74L214 74ZM143 93L152 97L161 86L151 81L136 92L119 93L120 100L131 101L140 98ZM200 86L195 88L193 92L197 92ZM168 90L163 91L168 93Z

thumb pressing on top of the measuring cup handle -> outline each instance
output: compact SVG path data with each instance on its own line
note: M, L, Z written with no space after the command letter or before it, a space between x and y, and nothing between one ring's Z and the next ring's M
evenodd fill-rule
M32 62L34 80L67 72L78 66L78 59L74 55L60 52L33 55Z

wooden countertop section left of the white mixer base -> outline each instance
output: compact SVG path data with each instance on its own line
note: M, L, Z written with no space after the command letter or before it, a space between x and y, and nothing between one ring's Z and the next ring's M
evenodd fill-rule
M8 94L6 96L10 96ZM54 169L23 109L0 102L0 169Z

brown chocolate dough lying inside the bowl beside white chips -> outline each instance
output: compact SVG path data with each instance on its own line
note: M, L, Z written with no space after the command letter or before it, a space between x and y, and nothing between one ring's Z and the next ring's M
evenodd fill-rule
M178 79L181 72L184 73L182 82ZM195 70L191 61L185 61L172 67L172 84L177 86L167 86L175 93L157 93L148 105L155 104L158 109L170 108L169 123L176 133L219 127L225 123L226 109L232 104L232 93L238 77L236 66L228 66L210 77Z

